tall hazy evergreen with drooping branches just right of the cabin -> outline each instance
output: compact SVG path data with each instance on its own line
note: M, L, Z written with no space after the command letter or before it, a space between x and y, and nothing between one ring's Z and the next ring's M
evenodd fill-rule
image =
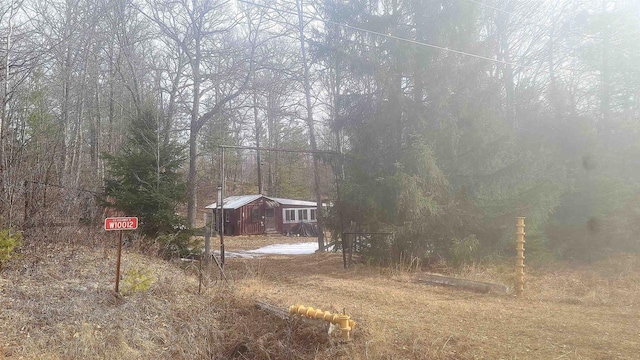
M326 1L325 6L337 22L377 33L474 45L473 37L461 36L474 32L473 13L457 4ZM334 128L345 139L345 177L336 209L362 231L395 233L392 243L372 244L371 255L379 260L397 260L402 253L448 254L453 238L478 233L477 222L462 219L475 211L472 202L443 167L455 156L461 135L454 132L462 107L471 101L464 82L484 86L482 73L469 76L479 68L477 61L444 58L432 49L361 31L329 30L317 55L336 74ZM363 47L353 46L353 39ZM344 46L338 49L336 43Z

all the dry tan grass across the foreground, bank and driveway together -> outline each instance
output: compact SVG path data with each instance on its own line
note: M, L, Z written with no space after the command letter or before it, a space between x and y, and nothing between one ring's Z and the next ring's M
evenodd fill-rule
M281 242L228 239L253 242L234 250ZM122 298L113 241L82 243L91 246L28 248L0 273L0 358L636 359L640 348L637 256L527 268L526 296L516 299L416 284L402 269L345 271L338 254L232 259L235 280L198 295L180 264L125 251L123 269L155 282ZM505 283L511 269L451 275ZM358 322L354 341L272 318L256 300L346 308Z

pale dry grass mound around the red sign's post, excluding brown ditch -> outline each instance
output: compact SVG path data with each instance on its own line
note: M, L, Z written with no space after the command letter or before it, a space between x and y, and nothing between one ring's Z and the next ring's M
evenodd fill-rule
M190 346L187 339L218 331L220 310L214 298L197 296L197 282L179 269L125 252L123 270L148 269L155 283L149 292L122 298L113 291L114 249L50 245L41 250L25 254L19 266L1 274L0 346L5 357L207 355L206 346ZM210 313L199 317L205 310Z

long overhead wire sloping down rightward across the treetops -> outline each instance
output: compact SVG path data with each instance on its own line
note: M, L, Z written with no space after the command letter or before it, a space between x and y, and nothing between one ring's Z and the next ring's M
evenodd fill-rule
M271 7L271 6L268 6L268 5L257 4L257 3L254 3L254 2L251 2L251 1L248 1L248 0L238 0L238 2L247 4L247 5L261 7L261 8L264 8L264 9L278 11L278 12L289 14L289 15L298 16L298 13L290 11L290 10L277 9L277 8L274 8L274 7ZM448 48L448 47L439 46L439 45L435 45L435 44L430 44L430 43L422 42L422 41L418 41L418 40L407 39L407 38L403 38L403 37L396 36L396 35L385 34L385 33L379 32L379 31L369 30L369 29L358 27L358 26L353 26L353 25L349 25L349 24L343 24L343 23L339 23L339 22L332 21L332 20L327 20L327 19L321 19L321 18L318 18L318 17L315 17L315 16L309 16L309 15L302 15L302 16L304 18L308 19L308 20L316 20L316 21L320 21L320 22L324 22L324 23L328 23L328 24L333 24L333 25L341 26L341 27L344 27L344 28L347 28L347 29L366 32L366 33L369 33L369 34L372 34L372 35L385 37L385 38L393 39L393 40L397 40L397 41L402 41L402 42L406 42L406 43L413 44L413 45L425 46L425 47L429 47L429 48L432 48L432 49L438 49L438 50L442 50L442 51L446 51L446 52L450 52L450 53L454 53L454 54L458 54L458 55L464 55L464 56L469 56L469 57L473 57L473 58L476 58L476 59L491 61L491 62L502 64L502 65L510 65L510 66L513 66L513 67L519 67L519 68L524 68L524 69L536 69L536 67L534 67L534 66L521 65L521 64L517 64L517 63L513 63L513 62L498 60L498 59L494 59L494 58L491 58L491 57L488 57L488 56L478 55L478 54L474 54L474 53L470 53L470 52L466 52L466 51L462 51L462 50L451 49L451 48Z

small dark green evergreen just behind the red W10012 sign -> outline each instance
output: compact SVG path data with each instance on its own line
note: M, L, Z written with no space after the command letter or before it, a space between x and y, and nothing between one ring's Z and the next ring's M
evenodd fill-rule
M104 155L110 178L105 195L111 206L138 216L145 235L175 232L184 221L176 207L185 200L179 173L186 160L183 148L159 132L161 115L146 107L132 119L128 136L116 155Z

